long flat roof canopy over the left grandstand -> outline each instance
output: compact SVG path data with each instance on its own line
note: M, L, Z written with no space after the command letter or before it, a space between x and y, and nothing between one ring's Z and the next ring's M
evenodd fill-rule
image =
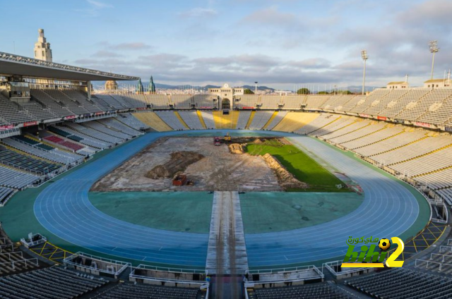
M138 80L138 77L68 66L0 51L0 74L76 81Z

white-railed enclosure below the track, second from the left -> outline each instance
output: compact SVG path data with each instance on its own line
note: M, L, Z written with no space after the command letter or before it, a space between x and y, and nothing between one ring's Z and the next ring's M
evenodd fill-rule
M63 264L65 267L71 269L98 276L114 277L114 279L117 279L127 268L131 268L131 263L129 262L110 260L104 257L88 255L84 252L76 252L73 255L66 257L63 260Z

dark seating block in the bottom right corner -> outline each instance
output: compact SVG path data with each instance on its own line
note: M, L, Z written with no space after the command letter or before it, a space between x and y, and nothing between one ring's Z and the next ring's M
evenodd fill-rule
M374 298L451 298L452 279L397 268L344 281L347 286Z

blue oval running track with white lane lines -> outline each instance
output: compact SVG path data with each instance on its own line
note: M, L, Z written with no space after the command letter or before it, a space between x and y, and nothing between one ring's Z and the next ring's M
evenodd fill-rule
M189 135L218 135L231 130L200 130ZM233 132L233 130L232 130ZM249 267L273 267L343 257L349 236L398 236L414 224L419 206L414 195L358 161L304 136L247 131L254 135L292 136L295 144L315 152L364 190L363 204L351 214L318 226L278 233L246 235ZM181 132L148 133L81 166L51 183L37 197L35 216L59 238L75 245L131 260L184 267L205 267L208 234L165 231L138 226L100 212L88 199L90 187L157 138Z

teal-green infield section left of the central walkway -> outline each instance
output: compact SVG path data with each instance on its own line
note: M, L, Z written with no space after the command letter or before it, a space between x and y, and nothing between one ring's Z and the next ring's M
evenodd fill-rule
M207 192L91 192L101 212L132 224L209 233L213 195Z

